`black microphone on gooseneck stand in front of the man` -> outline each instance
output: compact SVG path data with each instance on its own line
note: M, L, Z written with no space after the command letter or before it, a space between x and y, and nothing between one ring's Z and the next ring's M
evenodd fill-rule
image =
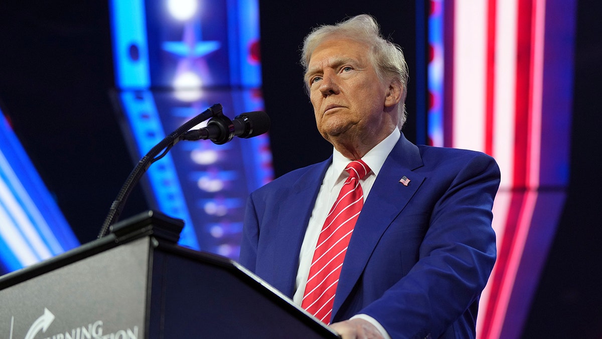
M253 138L270 129L270 117L263 111L247 112L231 121L225 115L211 118L206 127L184 133L182 140L195 141L210 139L214 144L222 145L234 136Z

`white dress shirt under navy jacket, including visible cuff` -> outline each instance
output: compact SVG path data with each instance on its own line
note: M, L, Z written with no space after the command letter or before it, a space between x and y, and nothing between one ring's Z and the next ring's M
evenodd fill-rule
M399 138L401 133L399 129L394 128L393 132L386 137L383 141L379 142L374 146L368 153L362 157L362 160L370 167L371 172L368 173L364 179L360 180L359 183L362 186L364 192L364 201L370 194L370 189L376 180L376 176L385 163L386 157L389 156L391 150ZM339 153L336 149L332 154L332 163L326 170L322 185L320 186L320 192L315 200L314 209L309 217L309 224L305 231L305 238L301 244L301 251L299 253L299 268L297 270L297 278L295 282L296 291L293 296L293 302L297 305L301 305L303 300L303 294L305 293L305 284L309 275L309 268L311 267L311 261L314 257L315 246L318 242L318 237L322 230L326 215L330 212L330 208L337 200L338 194L343 187L343 184L349 174L345 171L346 166L352 160L347 159L343 154ZM353 236L353 235L352 235ZM368 320L374 326L376 326L383 337L390 338L386 333L385 329L372 317L365 314L355 315L353 318L362 318Z

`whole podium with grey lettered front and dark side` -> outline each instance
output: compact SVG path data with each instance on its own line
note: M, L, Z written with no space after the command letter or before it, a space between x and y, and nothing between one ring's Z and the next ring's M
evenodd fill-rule
M148 211L0 277L0 337L338 338L237 262L178 246L182 226Z

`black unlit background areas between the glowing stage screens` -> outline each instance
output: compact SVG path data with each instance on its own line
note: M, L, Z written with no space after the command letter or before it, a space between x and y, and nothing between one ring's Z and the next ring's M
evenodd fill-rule
M298 49L309 28L347 15L373 14L383 34L403 46L411 71L405 133L415 140L414 6L414 1L260 1L263 90L276 176L330 154L303 92ZM601 10L593 1L578 5L571 179L524 337L602 337ZM95 238L137 161L111 106L108 23L105 1L0 3L0 108L80 242ZM123 217L146 208L137 189Z

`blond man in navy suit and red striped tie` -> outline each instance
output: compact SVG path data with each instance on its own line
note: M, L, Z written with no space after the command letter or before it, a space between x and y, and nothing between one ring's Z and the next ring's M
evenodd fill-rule
M333 156L250 195L240 262L343 338L473 338L495 262L495 161L405 139L407 67L370 16L314 30L302 65ZM324 236L332 224L352 225ZM324 265L341 264L325 270L329 251Z

